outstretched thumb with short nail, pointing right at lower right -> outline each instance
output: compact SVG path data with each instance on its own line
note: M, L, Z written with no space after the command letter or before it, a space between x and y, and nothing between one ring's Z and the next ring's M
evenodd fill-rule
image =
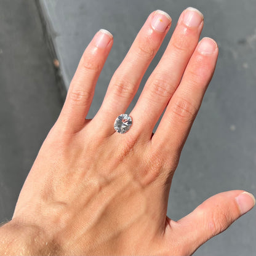
M193 254L199 246L222 233L254 205L254 196L241 190L216 194L204 201L175 225L176 234L182 238L186 247L184 254Z

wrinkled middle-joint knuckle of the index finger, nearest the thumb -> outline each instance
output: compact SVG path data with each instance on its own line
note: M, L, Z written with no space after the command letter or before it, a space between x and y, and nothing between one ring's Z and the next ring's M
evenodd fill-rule
M185 122L193 121L196 118L197 108L188 100L178 98L172 103L172 112L175 117Z

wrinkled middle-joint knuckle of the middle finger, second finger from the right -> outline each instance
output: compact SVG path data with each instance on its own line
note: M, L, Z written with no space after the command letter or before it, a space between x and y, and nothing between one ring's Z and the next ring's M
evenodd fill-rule
M151 93L162 98L170 98L173 94L172 86L170 86L169 78L156 78L151 82Z

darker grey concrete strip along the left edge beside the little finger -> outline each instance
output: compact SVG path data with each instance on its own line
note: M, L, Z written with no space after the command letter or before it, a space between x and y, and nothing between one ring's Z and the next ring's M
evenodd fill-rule
M62 107L36 4L0 1L0 223Z

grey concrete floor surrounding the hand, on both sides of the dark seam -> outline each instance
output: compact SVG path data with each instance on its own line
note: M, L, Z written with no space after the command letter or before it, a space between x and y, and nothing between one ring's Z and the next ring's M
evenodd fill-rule
M114 35L90 118L150 12L165 10L175 27L186 7L201 10L205 16L202 36L218 42L220 57L174 177L168 215L177 220L221 191L244 189L256 194L255 0L39 1L66 87L96 31L105 28ZM10 218L26 174L62 104L33 1L1 0L0 5L0 217L4 220ZM148 69L142 87L172 31ZM255 220L254 209L195 255L254 255Z

